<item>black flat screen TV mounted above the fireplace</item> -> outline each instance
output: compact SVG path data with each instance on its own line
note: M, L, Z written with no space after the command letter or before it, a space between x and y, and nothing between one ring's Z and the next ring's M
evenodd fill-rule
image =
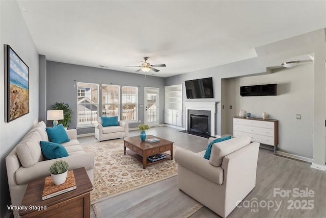
M187 99L214 98L213 81L211 77L197 80L187 80L184 82Z

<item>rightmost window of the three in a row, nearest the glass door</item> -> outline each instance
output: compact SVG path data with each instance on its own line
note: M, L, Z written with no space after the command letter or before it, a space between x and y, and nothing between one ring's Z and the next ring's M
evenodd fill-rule
M122 87L122 120L138 119L138 87Z

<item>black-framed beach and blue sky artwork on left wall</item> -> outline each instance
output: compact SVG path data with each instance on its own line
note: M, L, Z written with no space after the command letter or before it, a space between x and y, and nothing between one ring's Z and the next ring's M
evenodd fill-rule
M30 68L5 44L5 119L11 122L30 112Z

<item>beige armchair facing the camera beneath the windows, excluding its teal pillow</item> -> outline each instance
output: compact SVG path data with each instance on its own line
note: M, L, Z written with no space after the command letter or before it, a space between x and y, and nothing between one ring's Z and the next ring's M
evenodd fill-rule
M118 121L119 126L103 127L101 117L97 118L98 123L94 123L95 127L95 138L99 141L124 138L129 134L129 124L124 121Z

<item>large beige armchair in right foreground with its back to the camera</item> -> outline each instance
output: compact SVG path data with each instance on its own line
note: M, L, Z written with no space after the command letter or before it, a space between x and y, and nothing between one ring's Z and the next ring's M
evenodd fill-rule
M214 143L209 160L203 158L205 151L177 150L179 189L227 217L256 186L259 143L250 139L240 136Z

